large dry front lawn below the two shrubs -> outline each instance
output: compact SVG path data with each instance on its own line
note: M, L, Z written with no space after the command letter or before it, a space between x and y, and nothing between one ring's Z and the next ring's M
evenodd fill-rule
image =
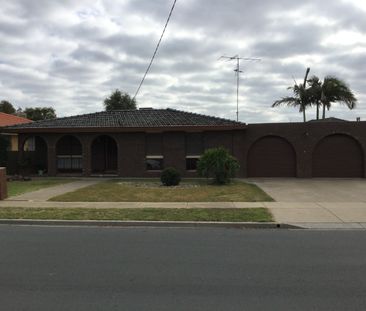
M54 198L61 202L258 202L273 201L256 185L233 181L227 185L186 180L176 187L161 186L158 180L112 180Z

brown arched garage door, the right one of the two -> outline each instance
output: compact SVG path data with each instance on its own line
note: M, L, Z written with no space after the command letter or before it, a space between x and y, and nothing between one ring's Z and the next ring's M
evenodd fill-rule
M347 135L322 139L313 152L313 177L363 177L363 152Z

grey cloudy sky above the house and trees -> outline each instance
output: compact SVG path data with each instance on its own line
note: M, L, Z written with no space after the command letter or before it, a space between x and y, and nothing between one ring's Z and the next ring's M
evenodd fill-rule
M171 5L0 0L0 100L68 116L102 110L116 88L133 95ZM354 111L335 106L328 115L366 120L364 0L178 0L139 107L235 119L235 63L218 60L235 54L262 59L242 63L241 121L301 121L294 108L270 106L306 67L343 78L359 100Z

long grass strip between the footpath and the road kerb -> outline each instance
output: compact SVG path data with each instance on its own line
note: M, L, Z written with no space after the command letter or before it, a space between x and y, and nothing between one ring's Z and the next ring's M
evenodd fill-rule
M22 208L0 207L0 219L271 222L265 208Z

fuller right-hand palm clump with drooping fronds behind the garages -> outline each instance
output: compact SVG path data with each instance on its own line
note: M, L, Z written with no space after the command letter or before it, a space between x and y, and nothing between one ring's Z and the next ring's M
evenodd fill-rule
M317 105L317 119L319 119L320 105L323 107L323 119L325 119L325 109L329 110L332 103L345 104L349 109L356 107L357 99L350 87L337 77L326 76L321 82L318 77L313 76L309 80L309 85L313 102Z

